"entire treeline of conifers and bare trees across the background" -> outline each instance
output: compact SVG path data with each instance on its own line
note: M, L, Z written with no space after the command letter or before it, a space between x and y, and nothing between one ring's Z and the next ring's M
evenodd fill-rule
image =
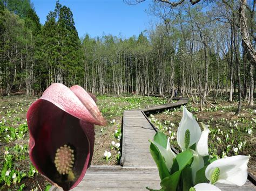
M14 6L19 2L19 6ZM58 1L44 25L29 0L1 0L2 94L42 93L51 83L79 84L96 94L170 94L201 98L237 91L253 104L255 69L242 46L239 1L182 8L155 2L161 22L138 38L79 39L72 11ZM255 48L255 1L247 27Z

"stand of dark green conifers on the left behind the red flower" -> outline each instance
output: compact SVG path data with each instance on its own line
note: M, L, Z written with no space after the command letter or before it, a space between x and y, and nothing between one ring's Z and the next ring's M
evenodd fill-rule
M83 55L69 8L57 2L43 26L29 0L1 1L0 9L2 94L32 95L53 82L79 83Z

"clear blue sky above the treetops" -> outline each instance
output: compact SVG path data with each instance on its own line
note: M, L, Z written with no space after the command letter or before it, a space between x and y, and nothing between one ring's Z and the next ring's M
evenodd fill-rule
M45 23L49 11L55 9L54 0L31 0L42 24ZM123 0L60 0L60 4L68 6L75 20L79 37L88 33L91 37L113 34L113 36L129 38L149 27L153 19L145 12L151 0L137 5L127 5Z

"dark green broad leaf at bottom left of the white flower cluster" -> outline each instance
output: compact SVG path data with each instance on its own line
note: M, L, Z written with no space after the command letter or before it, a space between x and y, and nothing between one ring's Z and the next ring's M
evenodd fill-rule
M180 174L181 171L177 171L173 173L171 176L168 176L165 179L163 179L160 183L161 187L164 190L176 191L180 179Z

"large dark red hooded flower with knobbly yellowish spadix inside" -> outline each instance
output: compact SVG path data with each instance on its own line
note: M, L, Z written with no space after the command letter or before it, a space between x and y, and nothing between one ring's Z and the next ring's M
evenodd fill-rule
M39 173L64 190L83 179L92 159L94 124L106 123L93 99L80 86L53 83L26 114L30 160Z

